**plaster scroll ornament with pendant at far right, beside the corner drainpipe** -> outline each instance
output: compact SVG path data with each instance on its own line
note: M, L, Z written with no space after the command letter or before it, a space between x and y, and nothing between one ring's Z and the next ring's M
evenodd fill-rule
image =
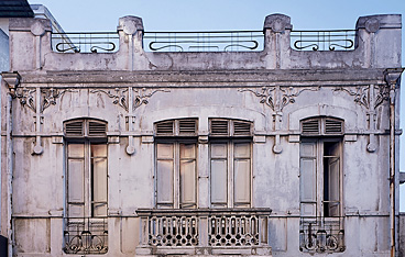
M368 152L374 153L376 150L375 131L376 131L376 109L384 102L390 100L390 88L385 85L370 85L353 87L338 87L333 89L335 92L343 91L354 97L354 102L366 109L369 116L370 142L368 144Z

